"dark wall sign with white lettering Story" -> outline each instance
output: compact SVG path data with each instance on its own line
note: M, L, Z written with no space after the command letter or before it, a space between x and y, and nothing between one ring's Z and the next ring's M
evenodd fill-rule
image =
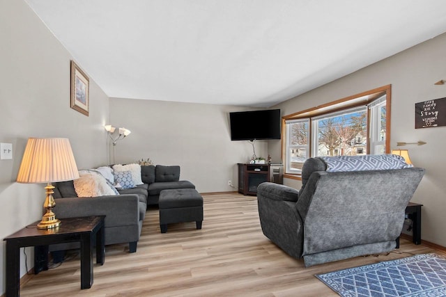
M415 103L415 129L446 126L446 97Z

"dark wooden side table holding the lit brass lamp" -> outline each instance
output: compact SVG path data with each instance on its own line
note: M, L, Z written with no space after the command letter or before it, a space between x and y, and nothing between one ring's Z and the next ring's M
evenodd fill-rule
M91 288L94 239L96 239L96 263L102 265L105 261L105 216L61 218L60 220L59 227L41 230L37 229L39 222L36 222L3 239L6 241L6 296L19 296L20 248L72 241L81 243L81 289Z

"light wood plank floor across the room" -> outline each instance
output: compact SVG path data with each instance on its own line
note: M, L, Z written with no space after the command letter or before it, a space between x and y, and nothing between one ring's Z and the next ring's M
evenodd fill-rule
M169 225L160 233L149 209L137 252L106 246L91 289L80 289L79 257L33 276L21 296L337 296L314 274L435 251L401 239L388 255L355 257L305 268L271 243L259 223L256 197L203 195L203 229ZM445 254L442 254L445 255Z

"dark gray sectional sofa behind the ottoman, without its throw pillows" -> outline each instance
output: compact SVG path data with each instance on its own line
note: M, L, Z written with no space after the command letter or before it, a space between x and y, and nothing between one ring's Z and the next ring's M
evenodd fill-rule
M141 166L144 184L118 190L120 195L78 198L72 181L54 184L57 218L105 215L105 245L129 243L136 252L148 205L156 205L164 189L195 188L180 180L180 166ZM50 251L77 248L78 243L53 245Z

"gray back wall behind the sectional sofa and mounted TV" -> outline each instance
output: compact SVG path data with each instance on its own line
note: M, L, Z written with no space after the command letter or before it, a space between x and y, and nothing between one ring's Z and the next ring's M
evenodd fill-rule
M132 131L117 142L115 163L150 158L155 164L180 165L181 179L201 193L236 191L228 181L236 186L236 164L247 162L253 151L247 141L231 141L231 111L240 107L111 98L110 124ZM257 156L268 156L268 141L254 145Z

